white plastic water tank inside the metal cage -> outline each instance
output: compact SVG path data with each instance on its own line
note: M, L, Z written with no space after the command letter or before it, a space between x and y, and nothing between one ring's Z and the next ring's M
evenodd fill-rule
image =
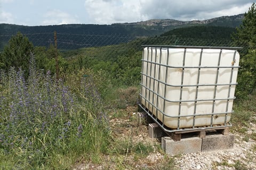
M238 67L232 48L145 47L141 105L171 129L227 124Z

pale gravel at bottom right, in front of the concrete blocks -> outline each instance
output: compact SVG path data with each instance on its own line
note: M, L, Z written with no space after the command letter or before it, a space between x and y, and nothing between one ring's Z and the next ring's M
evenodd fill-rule
M235 142L233 149L217 150L210 152L196 152L191 154L184 154L179 157L174 157L175 167L181 170L185 169L227 169L235 170L235 163L239 161L247 169L256 170L256 154L251 151L255 145L255 141L249 142L241 141ZM226 162L228 165L224 164ZM218 165L214 164L217 163ZM222 164L223 163L223 164Z

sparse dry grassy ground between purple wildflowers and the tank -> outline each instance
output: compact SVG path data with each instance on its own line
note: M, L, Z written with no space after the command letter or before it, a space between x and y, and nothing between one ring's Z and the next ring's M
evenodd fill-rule
M149 138L147 125L137 123L137 110L127 107L111 116L113 141L100 164L82 162L74 169L175 169L174 158L165 156L157 139Z

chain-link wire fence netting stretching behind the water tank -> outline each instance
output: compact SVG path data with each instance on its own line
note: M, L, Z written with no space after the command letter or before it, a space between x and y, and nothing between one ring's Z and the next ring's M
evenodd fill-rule
M54 45L54 32L24 34L34 46L49 47ZM0 35L0 50L14 35ZM175 45L175 46L214 46L214 47L237 47L231 39L197 39L180 38L174 36L138 37L131 35L95 35L58 33L57 45L60 51L74 50L79 48L98 48L105 56L113 56L115 53L129 50L142 50L141 45ZM246 47L246 44L239 47ZM246 48L244 48L246 49ZM243 49L242 49L243 50Z

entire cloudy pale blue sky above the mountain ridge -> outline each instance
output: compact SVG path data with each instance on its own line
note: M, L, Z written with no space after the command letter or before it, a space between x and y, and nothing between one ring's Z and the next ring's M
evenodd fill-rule
M205 20L245 13L256 0L0 0L0 23L112 24Z

